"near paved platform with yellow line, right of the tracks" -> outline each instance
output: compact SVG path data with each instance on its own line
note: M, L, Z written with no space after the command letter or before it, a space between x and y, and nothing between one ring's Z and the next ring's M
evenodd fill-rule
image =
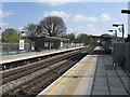
M101 46L37 95L128 95L128 75Z

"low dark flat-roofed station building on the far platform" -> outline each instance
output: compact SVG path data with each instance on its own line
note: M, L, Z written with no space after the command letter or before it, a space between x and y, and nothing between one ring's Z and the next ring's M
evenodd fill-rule
M31 51L43 51L60 48L63 46L63 41L69 42L69 39L56 38L56 37L32 37L29 38Z

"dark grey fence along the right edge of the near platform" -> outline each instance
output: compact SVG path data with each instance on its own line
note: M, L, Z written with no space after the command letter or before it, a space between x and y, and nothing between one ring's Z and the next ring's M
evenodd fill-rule
M130 73L130 42L113 44L113 60Z

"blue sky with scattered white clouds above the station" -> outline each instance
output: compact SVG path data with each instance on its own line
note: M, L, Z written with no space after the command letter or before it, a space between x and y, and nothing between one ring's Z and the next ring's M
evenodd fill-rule
M28 24L39 24L47 16L60 16L67 33L110 33L109 29L118 29L113 23L118 23L125 24L125 36L128 34L128 15L120 13L128 9L128 2L2 2L0 6L2 30L22 29Z

